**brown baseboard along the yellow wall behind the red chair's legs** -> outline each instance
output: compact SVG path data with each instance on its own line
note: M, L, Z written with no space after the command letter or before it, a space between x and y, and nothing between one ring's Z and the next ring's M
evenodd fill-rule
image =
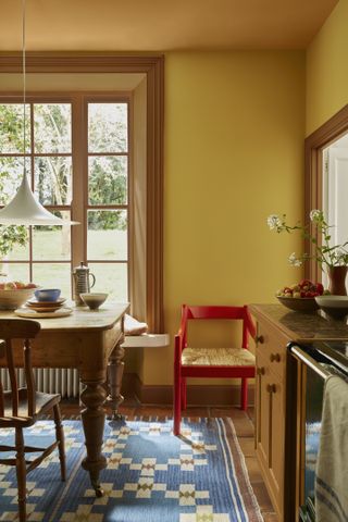
M248 403L254 403L253 384L248 386ZM173 386L142 384L136 373L125 373L122 382L122 395L136 397L142 405L172 405ZM188 385L187 403L189 406L239 406L240 386L238 385Z

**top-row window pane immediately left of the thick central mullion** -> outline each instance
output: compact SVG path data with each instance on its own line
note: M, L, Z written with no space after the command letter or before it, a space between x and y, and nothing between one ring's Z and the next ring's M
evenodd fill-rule
M70 103L37 103L34 105L34 148L36 153L71 152Z

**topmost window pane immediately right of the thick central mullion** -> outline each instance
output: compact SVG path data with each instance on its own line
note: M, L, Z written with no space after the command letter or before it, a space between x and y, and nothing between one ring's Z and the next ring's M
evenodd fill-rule
M126 152L127 103L88 103L88 151Z

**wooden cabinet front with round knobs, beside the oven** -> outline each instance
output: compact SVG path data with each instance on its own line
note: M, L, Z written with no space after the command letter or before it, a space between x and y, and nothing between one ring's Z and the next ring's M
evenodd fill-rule
M286 344L286 337L273 325L258 321L256 452L281 520L284 520Z

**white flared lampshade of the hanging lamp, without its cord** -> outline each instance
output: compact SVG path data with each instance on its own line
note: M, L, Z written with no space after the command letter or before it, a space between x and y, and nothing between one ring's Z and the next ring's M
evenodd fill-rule
M1 225L76 225L77 221L62 220L45 209L30 190L25 171L17 194L0 210Z

